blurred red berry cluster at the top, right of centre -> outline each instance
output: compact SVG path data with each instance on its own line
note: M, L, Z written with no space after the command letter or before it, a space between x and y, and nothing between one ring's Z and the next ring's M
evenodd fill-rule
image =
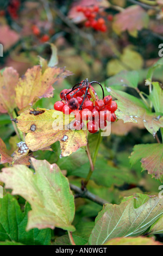
M105 20L102 17L96 19L100 11L98 5L94 5L93 7L82 7L79 5L77 7L77 11L81 11L86 17L87 20L85 21L85 27L92 27L96 31L101 32L107 31Z

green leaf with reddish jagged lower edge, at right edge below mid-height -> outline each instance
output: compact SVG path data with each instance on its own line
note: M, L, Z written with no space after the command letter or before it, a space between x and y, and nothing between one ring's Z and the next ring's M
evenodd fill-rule
M142 170L148 170L156 179L163 177L163 144L141 144L135 145L130 156L131 165L141 159Z

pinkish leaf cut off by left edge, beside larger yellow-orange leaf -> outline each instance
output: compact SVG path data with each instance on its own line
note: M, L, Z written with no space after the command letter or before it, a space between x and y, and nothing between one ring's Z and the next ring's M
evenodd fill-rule
M0 72L0 112L11 113L16 107L15 87L18 82L18 73L13 68L5 68Z

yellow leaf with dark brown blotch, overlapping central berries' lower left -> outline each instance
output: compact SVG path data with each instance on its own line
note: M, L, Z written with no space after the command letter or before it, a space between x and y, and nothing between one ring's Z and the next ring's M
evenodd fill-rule
M18 129L28 133L27 147L32 151L44 150L59 141L61 156L68 156L87 144L85 130L71 130L74 118L54 109L28 109L15 119Z

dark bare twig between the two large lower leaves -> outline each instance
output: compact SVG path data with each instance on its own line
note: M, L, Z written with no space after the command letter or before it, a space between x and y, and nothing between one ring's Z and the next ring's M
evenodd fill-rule
M77 197L87 198L99 205L109 204L109 202L107 202L106 200L96 196L95 194L92 194L91 192L89 192L87 190L82 191L81 188L79 188L73 184L70 184L70 188L74 192L77 192Z

